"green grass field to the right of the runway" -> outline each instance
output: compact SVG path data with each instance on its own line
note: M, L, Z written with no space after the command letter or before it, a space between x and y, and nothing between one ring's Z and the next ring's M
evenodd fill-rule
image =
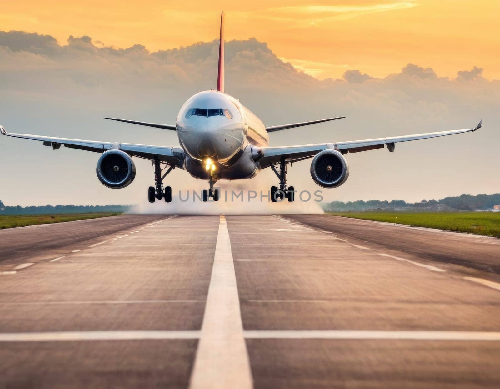
M500 212L327 212L356 219L387 221L500 237Z

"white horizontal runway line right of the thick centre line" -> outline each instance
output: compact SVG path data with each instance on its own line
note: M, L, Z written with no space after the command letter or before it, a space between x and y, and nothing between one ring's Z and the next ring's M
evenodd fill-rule
M478 331L257 330L244 331L244 336L247 339L500 340L500 332Z

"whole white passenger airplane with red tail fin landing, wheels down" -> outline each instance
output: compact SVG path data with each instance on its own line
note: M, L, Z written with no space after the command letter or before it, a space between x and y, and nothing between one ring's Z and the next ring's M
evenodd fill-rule
M163 188L163 179L174 168L186 170L198 179L207 179L208 190L203 190L202 199L211 197L217 201L219 190L213 184L219 179L248 179L260 170L269 167L279 179L279 187L271 186L273 202L293 201L294 188L286 184L286 165L312 158L310 174L313 181L325 188L343 184L349 176L346 153L384 148L394 151L395 143L426 139L475 131L474 128L451 131L428 132L406 136L382 137L343 142L269 146L269 132L288 128L337 120L345 116L330 117L299 123L264 126L262 121L238 99L224 91L224 12L220 15L220 40L218 52L217 88L205 90L191 96L182 105L175 124L150 123L137 120L106 117L106 119L145 125L176 131L180 147L146 144L103 142L95 140L68 139L10 133L0 125L3 135L40 140L45 146L58 149L65 147L101 153L97 160L97 177L107 187L123 188L135 177L132 156L151 160L154 166L154 186L148 188L148 200L162 198L172 201L172 188Z

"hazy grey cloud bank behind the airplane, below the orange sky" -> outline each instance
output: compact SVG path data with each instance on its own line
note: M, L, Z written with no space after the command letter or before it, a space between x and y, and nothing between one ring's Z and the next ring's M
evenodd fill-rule
M0 122L18 132L178 145L172 131L106 122L103 117L175 122L190 95L215 87L217 48L213 40L150 52L141 44L106 46L86 35L70 36L59 44L49 35L0 32ZM483 78L482 68L448 78L410 63L382 78L350 69L342 79L318 80L253 38L226 42L225 54L226 91L266 125L347 116L272 133L271 145L465 128L484 119L485 127L473 134L401 143L393 153L347 154L349 179L338 189L325 189L326 200L419 200L498 191L491 177L500 165L494 147L500 133L491 128L500 121L500 81ZM0 137L0 155L2 200L7 204L134 203L145 196L153 179L150 163L137 160L136 180L130 186L106 189L95 177L93 153L63 147L52 151L19 139ZM30 177L36 198L18 190L22 172L31 171L33 163L38 167ZM288 170L289 183L297 189L320 189L308 168L307 161L294 163ZM256 189L275 183L268 169L245 182ZM174 190L206 186L179 169L168 176L168 184Z

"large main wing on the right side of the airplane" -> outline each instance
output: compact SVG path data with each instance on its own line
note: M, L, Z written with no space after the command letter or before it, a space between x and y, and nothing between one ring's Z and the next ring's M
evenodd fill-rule
M297 146L277 146L277 147L261 147L262 157L258 160L260 167L264 168L273 163L278 163L282 158L288 162L295 162L302 159L310 158L316 155L319 151L326 148L339 150L342 154L347 152L359 152L383 148L387 145L389 151L394 151L395 143L406 142L409 140L427 139L437 136L454 135L456 133L475 131L481 128L482 120L479 121L474 128L456 129L451 131L427 132L414 135L392 136L376 139L363 139L337 143L317 143L303 144Z

